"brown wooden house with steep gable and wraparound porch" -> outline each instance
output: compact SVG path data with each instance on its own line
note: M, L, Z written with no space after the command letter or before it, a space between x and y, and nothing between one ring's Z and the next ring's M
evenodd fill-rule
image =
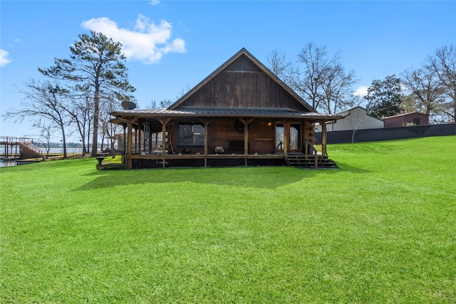
M282 165L291 155L318 165L326 130L317 156L314 124L341 118L316 112L245 48L167 109L110 115L124 128L127 169Z

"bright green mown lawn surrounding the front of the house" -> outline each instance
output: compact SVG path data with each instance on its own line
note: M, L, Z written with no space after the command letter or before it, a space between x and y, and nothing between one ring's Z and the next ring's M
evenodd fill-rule
M1 303L456 303L456 136L341 170L0 169Z

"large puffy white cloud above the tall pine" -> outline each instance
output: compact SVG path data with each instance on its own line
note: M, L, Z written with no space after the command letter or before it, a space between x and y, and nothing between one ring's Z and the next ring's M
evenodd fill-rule
M123 44L123 52L130 60L157 63L167 53L185 53L185 41L171 40L172 26L167 21L155 24L147 17L138 15L135 29L119 28L117 23L103 17L81 23L83 28L103 33L113 41Z

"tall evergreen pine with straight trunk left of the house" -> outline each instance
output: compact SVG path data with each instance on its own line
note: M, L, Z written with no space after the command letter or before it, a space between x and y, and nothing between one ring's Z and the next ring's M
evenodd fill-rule
M93 103L91 156L94 157L98 147L100 103L110 100L113 94L118 100L133 100L130 93L135 88L128 83L121 43L95 31L78 37L79 40L70 47L70 59L55 58L54 66L38 70L47 77L68 81L75 93L90 95L90 103Z

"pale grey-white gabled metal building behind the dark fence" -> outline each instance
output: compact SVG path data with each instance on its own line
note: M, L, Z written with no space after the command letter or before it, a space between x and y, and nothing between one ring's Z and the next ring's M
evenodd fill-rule
M350 110L336 113L343 116L343 119L336 120L332 124L326 125L326 130L343 131L343 130L361 130L361 129L376 129L385 127L385 122L372 115L368 115L365 108L355 107ZM315 132L321 132L321 126L315 125Z

